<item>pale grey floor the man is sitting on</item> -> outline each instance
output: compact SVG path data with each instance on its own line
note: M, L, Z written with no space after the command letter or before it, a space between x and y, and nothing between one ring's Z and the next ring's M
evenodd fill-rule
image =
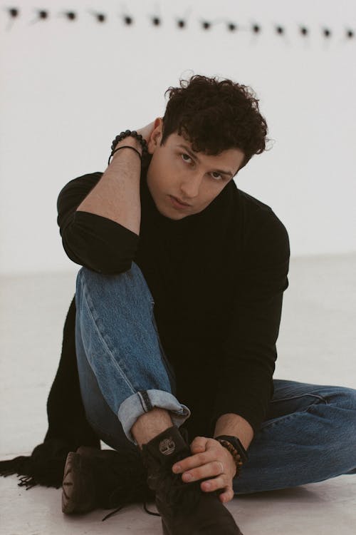
M291 260L275 378L356 387L355 273L356 254ZM75 275L1 277L0 459L43 441ZM1 534L161 533L159 517L138 504L104 523L108 511L73 518L61 512L61 489L25 491L17 482L0 477ZM356 477L340 476L236 496L227 506L244 535L355 535L355 505Z

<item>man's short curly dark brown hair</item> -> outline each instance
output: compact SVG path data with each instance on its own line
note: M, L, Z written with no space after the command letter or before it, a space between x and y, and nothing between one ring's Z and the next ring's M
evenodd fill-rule
M249 86L229 79L219 81L199 74L169 87L161 145L171 133L192 143L195 152L216 155L239 148L245 155L241 168L266 149L267 123Z

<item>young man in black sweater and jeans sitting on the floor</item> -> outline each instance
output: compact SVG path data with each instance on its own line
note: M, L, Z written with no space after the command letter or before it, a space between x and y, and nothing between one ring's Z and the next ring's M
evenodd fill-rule
M66 459L67 514L151 496L165 535L239 534L234 494L355 474L356 396L273 379L289 243L234 182L265 149L253 92L205 76L168 91L163 118L58 197L83 267L45 441L11 469L56 486Z

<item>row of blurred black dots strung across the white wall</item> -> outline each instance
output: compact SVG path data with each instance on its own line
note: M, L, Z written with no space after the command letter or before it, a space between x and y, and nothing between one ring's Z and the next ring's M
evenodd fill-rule
M21 11L18 8L11 7L7 8L6 11L8 12L10 19L13 21L14 19L18 19L19 16L21 16ZM46 21L51 16L50 12L47 9L36 9L35 11L36 19L32 22ZM89 14L90 16L94 17L99 24L105 24L105 22L108 20L108 15L106 15L105 13L101 13L98 11L89 11ZM63 16L70 22L78 20L78 13L76 13L75 11L63 11L59 14L59 16ZM135 19L130 15L123 14L120 15L120 18L122 19L123 24L125 24L126 26L135 24ZM221 21L219 20L219 23L220 22ZM227 31L246 31L246 26L242 27L239 26L239 24L236 24L235 22L231 21L223 22L224 24L226 24ZM152 26L162 26L163 24L162 19L159 16L150 16L150 23L152 24ZM184 29L187 27L187 20L177 19L176 24L178 29ZM214 24L218 23L216 21L201 20L200 24L202 30L208 31L209 29L211 29L212 26L214 26ZM262 27L260 24L251 24L251 26L248 27L248 30L251 31L253 34L260 34L262 31ZM281 36L286 34L286 29L280 24L276 24L274 26L274 31L276 32L276 34ZM308 29L306 26L299 26L298 31L299 34L303 37L307 37L308 35L310 35L310 29ZM321 34L323 35L323 37L325 37L325 39L330 39L330 37L333 36L333 31L330 28L324 27L321 29ZM347 37L347 39L353 39L355 37L355 31L351 28L345 29L345 37Z

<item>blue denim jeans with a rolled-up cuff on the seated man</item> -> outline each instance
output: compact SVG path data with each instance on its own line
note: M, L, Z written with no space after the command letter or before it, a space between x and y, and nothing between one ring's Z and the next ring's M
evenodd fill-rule
M135 448L130 429L152 407L180 427L190 410L175 397L155 304L140 268L101 275L82 267L75 292L75 347L88 422L114 449ZM235 494L356 474L356 390L273 379L266 420L235 478Z

